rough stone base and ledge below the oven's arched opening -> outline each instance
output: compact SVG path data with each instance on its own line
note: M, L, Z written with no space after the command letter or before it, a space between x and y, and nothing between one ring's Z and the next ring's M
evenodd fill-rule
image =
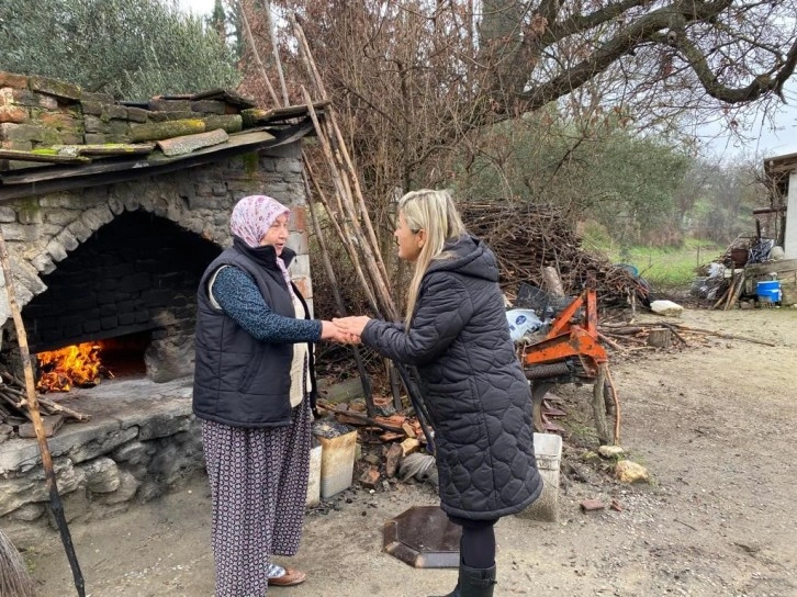
M93 401L94 419L67 425L49 439L68 521L113 516L179 488L204 470L190 394L187 381L166 384L147 399L106 396L111 404L102 408ZM112 401L119 404L109 414ZM35 547L56 528L33 439L12 439L0 450L0 528L19 549Z

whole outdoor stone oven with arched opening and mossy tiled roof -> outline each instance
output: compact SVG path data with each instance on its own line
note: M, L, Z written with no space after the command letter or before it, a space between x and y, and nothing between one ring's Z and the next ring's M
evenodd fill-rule
M258 110L229 92L123 105L0 72L0 229L31 352L101 340L117 373L55 397L91 415L48 440L69 518L108 516L202 469L195 292L231 241L238 199L293 207L292 274L312 304L301 161L311 129L304 108ZM4 288L2 322L0 370L20 372ZM0 425L0 527L24 548L53 532L50 518L36 441Z

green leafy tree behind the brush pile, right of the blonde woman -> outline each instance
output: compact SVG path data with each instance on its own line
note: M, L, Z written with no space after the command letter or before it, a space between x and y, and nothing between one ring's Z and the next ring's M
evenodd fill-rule
M573 121L552 123L551 113L484 127L480 151L453 160L457 194L554 204L627 245L677 236L676 200L694 161L686 151L616 120L587 132Z

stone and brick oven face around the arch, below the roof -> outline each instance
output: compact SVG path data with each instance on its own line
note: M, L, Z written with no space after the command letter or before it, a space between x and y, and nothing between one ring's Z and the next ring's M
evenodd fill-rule
M291 273L312 300L301 172L301 149L293 144L160 177L4 202L0 204L0 230L11 257L16 301L24 306L44 292L47 286L42 278L124 212L154 214L225 247L231 243L233 205L247 194L263 193L293 211L290 246L298 258ZM1 292L0 322L8 326L10 317L5 292Z

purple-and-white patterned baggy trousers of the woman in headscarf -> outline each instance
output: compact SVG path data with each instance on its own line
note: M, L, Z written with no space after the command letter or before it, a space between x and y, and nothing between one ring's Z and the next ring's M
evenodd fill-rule
M293 408L289 427L202 421L215 597L262 597L271 555L296 553L307 500L311 421L308 398Z

